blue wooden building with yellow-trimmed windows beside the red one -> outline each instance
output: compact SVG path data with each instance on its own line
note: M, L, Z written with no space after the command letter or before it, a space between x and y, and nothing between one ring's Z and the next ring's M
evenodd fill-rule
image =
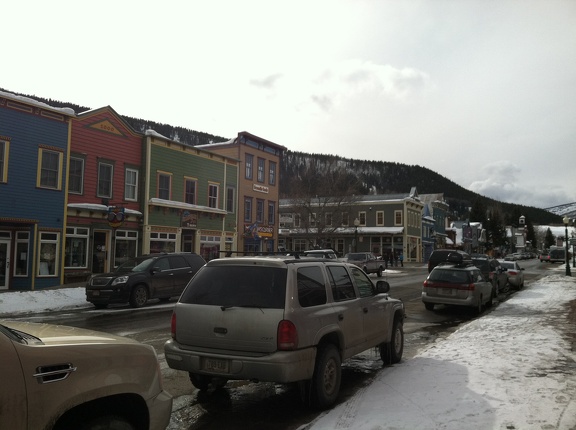
M74 115L0 91L0 290L63 283Z

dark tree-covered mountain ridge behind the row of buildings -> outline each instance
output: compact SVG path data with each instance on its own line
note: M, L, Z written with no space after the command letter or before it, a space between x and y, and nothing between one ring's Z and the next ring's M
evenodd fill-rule
M74 109L81 113L92 108L77 105L70 102L60 102L38 96L19 94L0 88L2 91L28 97L48 104L49 106ZM172 126L170 124L138 119L119 114L130 126L139 132L154 129L156 132L181 143L196 146L209 143L219 143L229 140L221 136L215 136L185 127ZM343 158L329 154L309 154L287 150L284 152L280 164L280 195L288 197L298 187L298 181L305 178L314 178L314 182L331 181L333 175L338 175L341 182L357 182L358 191L365 194L395 194L407 193L412 187L416 187L420 194L443 193L446 202L450 205L450 211L458 219L466 219L470 208L474 203L480 203L487 208L500 207L501 212L514 216L518 211L534 224L562 224L562 216L576 216L576 204L563 204L549 209L535 208L513 203L500 202L495 199L482 196L470 191L450 179L434 172L433 170L419 166L407 165L390 161L369 161L360 159ZM332 177L330 177L332 175ZM318 194L319 189L307 186L310 195ZM572 207L574 205L574 207ZM566 207L572 207L566 210ZM560 209L556 209L560 208ZM562 209L564 208L564 209ZM513 221L512 221L513 222Z

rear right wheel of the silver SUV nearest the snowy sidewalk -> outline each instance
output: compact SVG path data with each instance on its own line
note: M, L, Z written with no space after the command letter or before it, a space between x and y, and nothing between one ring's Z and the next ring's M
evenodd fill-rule
M314 406L325 409L336 401L341 377L342 360L336 346L327 344L320 347L312 377Z

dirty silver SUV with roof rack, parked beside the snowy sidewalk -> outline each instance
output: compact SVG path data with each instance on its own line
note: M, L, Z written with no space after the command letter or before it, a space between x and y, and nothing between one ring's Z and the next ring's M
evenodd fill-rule
M212 260L176 304L166 361L201 390L228 380L298 382L307 404L326 408L343 360L378 347L385 364L400 361L404 305L389 289L329 259Z

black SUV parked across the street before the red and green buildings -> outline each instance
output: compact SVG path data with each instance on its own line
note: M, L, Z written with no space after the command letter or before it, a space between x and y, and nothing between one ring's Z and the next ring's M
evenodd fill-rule
M86 285L86 301L97 308L111 303L144 306L149 299L179 296L206 261L194 253L150 254L130 259L114 272L95 275Z

